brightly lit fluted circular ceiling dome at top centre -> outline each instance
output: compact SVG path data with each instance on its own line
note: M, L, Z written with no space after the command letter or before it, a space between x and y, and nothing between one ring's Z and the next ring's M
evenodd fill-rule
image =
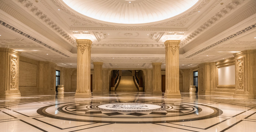
M140 24L174 17L198 0L63 0L67 6L100 21Z

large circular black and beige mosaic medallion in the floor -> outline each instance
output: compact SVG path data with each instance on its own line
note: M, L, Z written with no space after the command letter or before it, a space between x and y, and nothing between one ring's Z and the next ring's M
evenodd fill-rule
M71 121L104 123L160 123L203 120L222 111L205 105L161 101L90 101L71 102L42 107L39 114Z

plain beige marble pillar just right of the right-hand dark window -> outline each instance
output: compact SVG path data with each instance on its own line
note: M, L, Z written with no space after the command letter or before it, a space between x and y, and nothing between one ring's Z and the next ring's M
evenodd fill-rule
M209 95L211 89L210 63L199 64L198 70L198 94Z

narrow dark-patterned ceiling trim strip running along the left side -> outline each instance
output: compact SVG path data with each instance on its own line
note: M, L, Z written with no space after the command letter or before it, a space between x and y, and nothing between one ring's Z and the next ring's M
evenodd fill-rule
M3 26L5 26L5 27L7 27L8 29L13 30L13 31L16 32L16 33L19 33L19 34L21 34L21 35L23 35L23 36L25 36L25 37L27 37L27 38L29 38L29 39L35 41L36 43L39 43L39 44L41 44L41 45L43 45L43 46L45 46L45 47L47 47L47 48L49 48L49 49L51 49L51 50L57 52L58 54L64 55L64 56L66 56L66 57L70 57L70 56L64 54L63 52L61 52L61 51L59 51L59 50L57 50L57 49L51 47L50 45L47 45L47 44L43 43L42 41L40 41L40 40L38 40L38 39L36 39L36 38L34 38L34 37L32 37L32 36L30 36L30 35L28 35L28 34L22 32L21 30L16 29L15 27L13 27L13 26L11 26L11 25L9 25L9 24L7 24L7 23L1 21L1 20L0 20L0 24L3 25Z

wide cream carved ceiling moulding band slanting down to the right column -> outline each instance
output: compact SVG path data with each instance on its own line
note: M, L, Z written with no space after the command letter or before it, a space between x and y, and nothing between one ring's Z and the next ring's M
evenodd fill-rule
M241 3L238 0L233 0L231 3L227 4L225 8L221 9L218 13L212 16L211 19L207 20L205 23L200 25L198 29L193 31L188 36L186 36L184 40L181 41L180 45L182 47L185 46L189 41L195 38L195 36L202 33L205 29L210 27L216 21L220 20L221 18L224 18L225 15L227 15L229 12L231 12L234 8L238 7L239 5L241 5Z

